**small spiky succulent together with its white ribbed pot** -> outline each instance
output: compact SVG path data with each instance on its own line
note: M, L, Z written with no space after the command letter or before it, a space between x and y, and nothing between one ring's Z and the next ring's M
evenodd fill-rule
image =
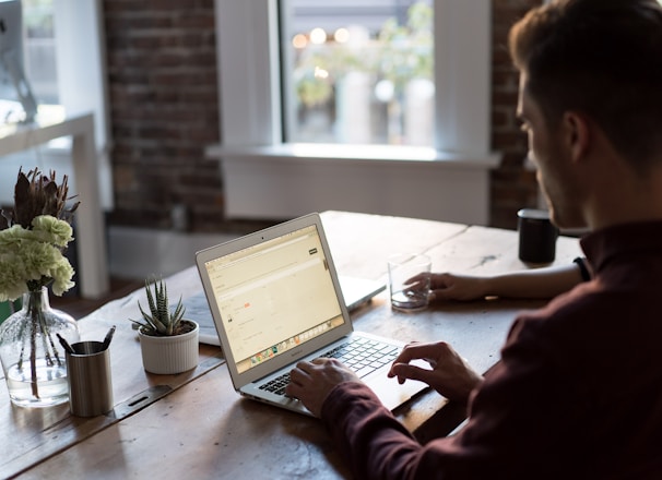
M145 280L149 311L138 307L141 320L132 320L138 329L142 363L145 371L176 374L198 365L198 336L196 322L184 317L181 297L174 308L168 303L167 287L163 280L150 285Z

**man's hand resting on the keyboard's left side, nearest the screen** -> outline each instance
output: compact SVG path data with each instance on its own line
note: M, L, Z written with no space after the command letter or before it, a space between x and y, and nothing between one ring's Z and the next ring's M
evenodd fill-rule
M312 362L298 362L289 372L289 385L285 392L319 417L333 387L347 381L358 381L358 376L335 359L319 358Z

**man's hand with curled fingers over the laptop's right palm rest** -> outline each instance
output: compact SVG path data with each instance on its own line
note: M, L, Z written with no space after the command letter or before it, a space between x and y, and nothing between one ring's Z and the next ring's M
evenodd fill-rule
M425 360L432 369L410 364L412 360ZM450 400L466 403L469 394L483 382L466 361L445 341L436 344L409 344L393 361L389 376L400 383L419 380Z

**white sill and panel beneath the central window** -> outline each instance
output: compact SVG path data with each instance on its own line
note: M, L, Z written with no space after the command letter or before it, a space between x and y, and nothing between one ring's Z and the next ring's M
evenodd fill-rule
M500 154L377 145L211 145L228 218L287 219L341 209L488 225Z

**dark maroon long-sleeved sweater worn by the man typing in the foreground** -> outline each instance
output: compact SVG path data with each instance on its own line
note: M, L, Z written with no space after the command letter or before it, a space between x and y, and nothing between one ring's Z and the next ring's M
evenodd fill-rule
M363 384L332 391L356 478L662 479L662 221L581 247L594 278L516 319L458 434L423 446Z

